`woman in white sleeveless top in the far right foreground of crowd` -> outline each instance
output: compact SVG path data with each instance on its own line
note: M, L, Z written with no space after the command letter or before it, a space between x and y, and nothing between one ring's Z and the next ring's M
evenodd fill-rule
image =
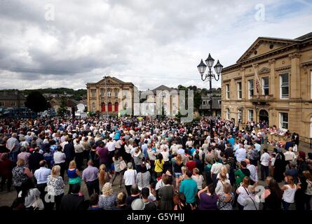
M292 176L285 176L285 184L280 190L283 190L283 209L288 210L290 204L294 203L294 194L297 191L297 186L294 184L294 178Z

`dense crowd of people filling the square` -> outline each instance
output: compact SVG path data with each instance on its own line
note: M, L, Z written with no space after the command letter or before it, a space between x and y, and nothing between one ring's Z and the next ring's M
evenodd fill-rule
M266 127L253 123L212 125L0 120L1 191L13 184L14 210L311 210L312 153L294 152L294 139L269 151Z

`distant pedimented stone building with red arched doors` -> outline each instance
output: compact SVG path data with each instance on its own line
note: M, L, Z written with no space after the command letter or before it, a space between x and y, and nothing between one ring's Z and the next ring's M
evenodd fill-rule
M134 95L137 88L118 78L106 76L97 83L87 83L88 111L116 115L123 111L133 114Z

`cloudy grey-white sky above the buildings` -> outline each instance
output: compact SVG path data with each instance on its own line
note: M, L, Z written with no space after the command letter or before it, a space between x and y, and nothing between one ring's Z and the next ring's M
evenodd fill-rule
M208 87L196 66L209 52L229 66L258 36L311 32L311 12L311 0L1 0L0 89L79 89L105 74L140 90Z

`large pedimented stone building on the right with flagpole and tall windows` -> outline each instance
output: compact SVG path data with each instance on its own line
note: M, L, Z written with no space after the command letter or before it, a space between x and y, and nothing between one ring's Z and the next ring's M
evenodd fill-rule
M266 120L309 142L312 33L294 39L259 37L236 64L224 68L222 117L236 123Z

